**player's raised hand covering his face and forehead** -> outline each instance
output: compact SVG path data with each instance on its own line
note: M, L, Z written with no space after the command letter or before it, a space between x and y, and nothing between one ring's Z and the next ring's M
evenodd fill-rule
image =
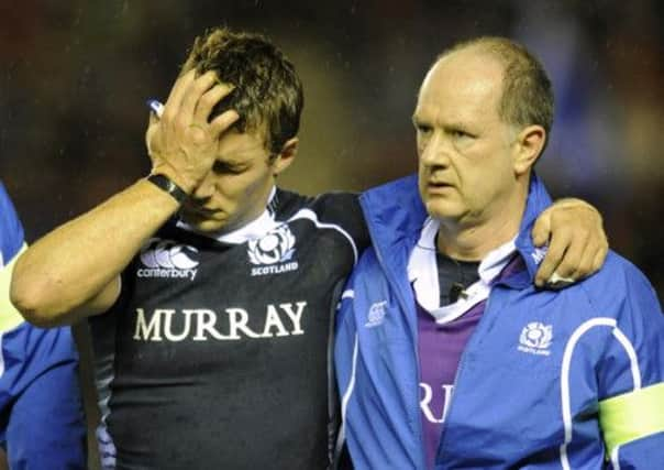
M186 192L191 192L214 164L221 134L239 118L234 110L208 121L212 108L232 91L213 72L180 76L161 118L151 113L145 143L153 173L162 173Z

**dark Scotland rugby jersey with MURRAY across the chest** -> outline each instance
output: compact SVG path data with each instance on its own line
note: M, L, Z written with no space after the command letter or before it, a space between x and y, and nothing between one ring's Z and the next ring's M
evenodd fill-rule
M169 222L90 319L120 469L324 469L335 288L368 234L357 197L277 189L264 237Z

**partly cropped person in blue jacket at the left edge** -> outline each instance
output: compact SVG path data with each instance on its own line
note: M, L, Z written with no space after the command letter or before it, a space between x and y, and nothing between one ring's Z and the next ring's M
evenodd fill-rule
M78 353L69 327L36 328L9 302L23 228L0 184L0 446L11 469L85 469Z

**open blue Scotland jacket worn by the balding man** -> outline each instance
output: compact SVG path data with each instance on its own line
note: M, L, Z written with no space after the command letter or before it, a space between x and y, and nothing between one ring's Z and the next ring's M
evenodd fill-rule
M412 176L362 204L373 248L337 316L342 436L357 469L424 469L407 263L427 215ZM543 252L530 231L550 204L533 177L516 242L528 270L490 292L460 362L435 468L664 469L664 316L654 291L612 252L583 282L534 288Z

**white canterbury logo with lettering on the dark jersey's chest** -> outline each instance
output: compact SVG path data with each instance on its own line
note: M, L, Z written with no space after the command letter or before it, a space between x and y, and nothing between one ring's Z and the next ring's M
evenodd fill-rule
M198 249L173 240L150 239L141 250L141 262L146 269L136 271L139 277L189 277L193 281L199 262L193 258Z

